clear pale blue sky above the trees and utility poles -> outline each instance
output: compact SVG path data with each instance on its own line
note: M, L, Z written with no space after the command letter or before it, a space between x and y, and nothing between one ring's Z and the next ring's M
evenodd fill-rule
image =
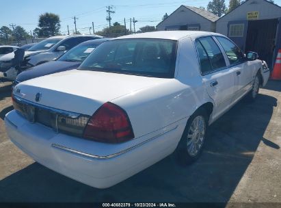
M129 29L130 18L135 17L137 31L139 27L145 25L156 26L166 12L171 14L182 4L206 8L208 3L209 0L0 0L0 27L13 23L24 27L27 31L33 31L38 25L40 14L53 12L59 14L62 34L67 34L67 25L70 33L74 31L75 25L72 19L74 16L78 18L77 30L81 34L89 34L92 22L95 32L109 25L106 21L106 7L110 5L115 12L111 14L112 23L118 22L124 25L124 18L126 18L126 27ZM275 3L281 5L281 0L275 0ZM228 4L229 0L226 0L226 6Z

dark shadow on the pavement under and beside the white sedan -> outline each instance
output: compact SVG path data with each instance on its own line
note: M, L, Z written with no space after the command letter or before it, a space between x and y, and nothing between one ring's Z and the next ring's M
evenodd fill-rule
M202 157L183 167L174 155L118 185L98 190L34 163L0 181L3 202L221 202L227 203L258 144L263 141L276 99L259 94L237 103L209 129Z

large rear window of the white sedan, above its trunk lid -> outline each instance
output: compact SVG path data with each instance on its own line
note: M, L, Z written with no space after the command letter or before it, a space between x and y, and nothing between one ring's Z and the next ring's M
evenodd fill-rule
M79 69L173 78L175 63L175 40L135 38L104 42Z

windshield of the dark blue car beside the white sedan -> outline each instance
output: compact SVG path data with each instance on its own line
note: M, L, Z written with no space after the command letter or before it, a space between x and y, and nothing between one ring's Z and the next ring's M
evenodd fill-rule
M73 49L70 49L68 52L64 53L62 57L59 57L58 61L62 62L83 62L98 44L81 44Z

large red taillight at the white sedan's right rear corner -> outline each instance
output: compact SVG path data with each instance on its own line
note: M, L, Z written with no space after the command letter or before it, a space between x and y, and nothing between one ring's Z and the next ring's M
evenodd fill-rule
M134 134L124 109L113 103L105 103L90 118L84 138L118 143L133 139Z

